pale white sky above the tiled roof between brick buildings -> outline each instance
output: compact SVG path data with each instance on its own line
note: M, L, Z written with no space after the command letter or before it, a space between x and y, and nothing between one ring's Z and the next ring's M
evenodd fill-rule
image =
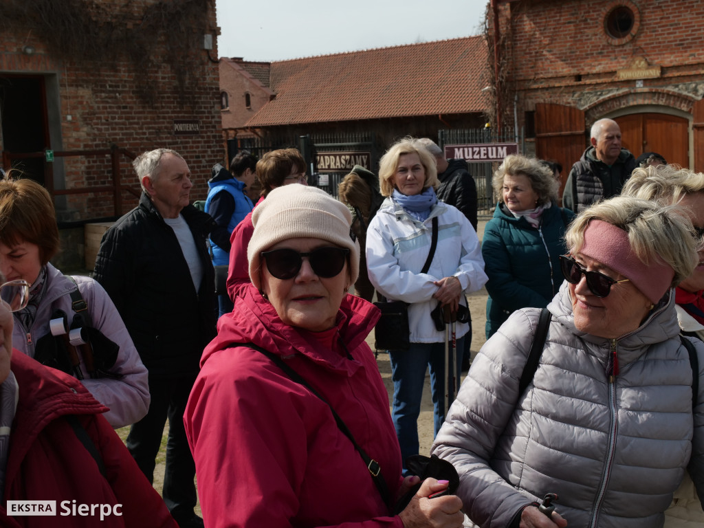
M216 0L218 54L285 61L481 34L489 0Z

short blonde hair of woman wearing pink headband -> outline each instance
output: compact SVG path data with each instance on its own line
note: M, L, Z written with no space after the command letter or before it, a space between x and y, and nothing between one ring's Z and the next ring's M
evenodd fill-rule
M586 208L565 233L567 249L578 253L584 246L584 231L591 220L603 220L628 233L631 250L645 265L658 258L670 265L675 287L689 277L699 261L692 224L678 206L632 196L615 196Z

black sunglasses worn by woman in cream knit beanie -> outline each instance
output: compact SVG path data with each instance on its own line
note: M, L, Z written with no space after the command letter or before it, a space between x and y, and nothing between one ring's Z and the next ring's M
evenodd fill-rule
M266 262L266 268L277 279L293 279L301 271L303 257L308 257L310 268L318 277L329 279L335 277L345 267L346 248L322 247L308 253L298 253L295 249L275 249L263 251L261 256Z

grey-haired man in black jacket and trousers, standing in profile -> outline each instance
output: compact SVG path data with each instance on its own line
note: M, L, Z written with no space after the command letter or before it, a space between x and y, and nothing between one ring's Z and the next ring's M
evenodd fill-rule
M151 405L132 425L127 448L153 482L168 417L163 498L181 528L202 527L183 413L203 348L215 337L215 276L206 246L215 221L189 205L191 172L179 153L145 152L133 166L143 190L139 206L103 236L94 277L149 370Z

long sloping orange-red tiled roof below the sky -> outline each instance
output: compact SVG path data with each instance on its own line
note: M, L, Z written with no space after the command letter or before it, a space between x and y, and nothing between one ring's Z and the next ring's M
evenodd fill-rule
M247 127L479 113L484 37L271 63L276 98Z

